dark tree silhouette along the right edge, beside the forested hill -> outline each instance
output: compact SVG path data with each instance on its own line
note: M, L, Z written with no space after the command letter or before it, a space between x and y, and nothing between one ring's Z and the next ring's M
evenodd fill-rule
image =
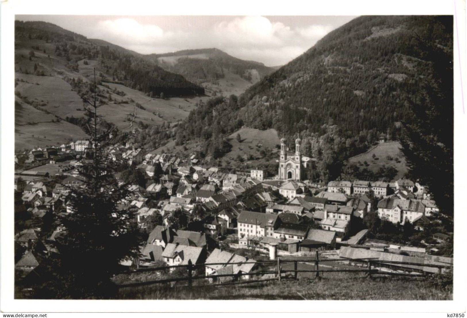
M446 23L447 27L452 34L452 24ZM426 89L408 100L413 120L405 123L401 143L410 176L428 186L441 212L453 215L453 54L435 43L422 43L433 73L423 79Z

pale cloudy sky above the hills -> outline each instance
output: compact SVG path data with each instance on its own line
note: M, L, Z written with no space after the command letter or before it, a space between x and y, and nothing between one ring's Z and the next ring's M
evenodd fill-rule
M217 48L233 57L283 65L355 16L16 15L46 21L142 54Z

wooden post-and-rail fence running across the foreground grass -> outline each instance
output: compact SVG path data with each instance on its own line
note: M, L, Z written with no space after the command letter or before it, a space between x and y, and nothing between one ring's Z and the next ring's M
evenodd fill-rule
M361 264L360 267L364 267L363 269L319 269L320 263L326 262L357 262ZM293 263L293 269L284 269L283 265L287 263ZM298 263L313 263L315 269L298 269ZM237 273L237 274L215 274L215 275L202 275L202 276L193 276L194 272L197 269L204 269L205 266L214 266L214 265L242 265L242 264L261 264L262 267L266 268L267 270L259 270L249 273ZM193 281L199 279L212 279L218 277L234 277L238 278L239 281L227 282L227 283L212 283L210 286L222 286L222 285L234 285L234 284L246 284L246 283L260 283L260 282L269 282L269 281L281 281L283 279L298 279L298 273L316 273L316 277L319 278L320 275L323 276L325 273L366 273L367 277L372 276L379 276L379 275L389 275L389 276L411 276L411 277L426 277L432 275L433 273L422 273L422 274L413 274L413 273L406 273L405 270L403 273L398 272L390 272L390 271L383 271L380 269L376 269L376 266L384 267L384 266L395 266L395 265L411 265L411 266L421 266L423 267L430 267L430 268L438 268L438 273L441 273L442 269L452 269L452 266L449 265L435 265L435 264L423 264L423 263L414 263L414 262L402 262L402 261L381 261L378 258L359 258L359 259L319 259L318 251L316 251L315 258L312 260L283 260L280 257L277 258L276 261L246 261L246 262L236 262L236 263L203 263L203 264L192 264L191 261L188 261L187 265L173 265L173 266L165 266L165 267L157 267L157 268L146 268L146 269L137 269L134 271L129 271L126 273L143 273L143 272L154 272L154 271L162 271L167 269L186 269L187 276L185 277L177 277L177 278L169 278L169 279L160 279L160 280L152 280L147 282L138 282L138 283L127 283L127 284L120 284L117 285L118 288L127 288L127 287L140 287L140 286L147 286L153 284L161 284L161 283L175 283L175 282L188 282L185 285L181 285L184 287L193 287ZM410 270L407 269L407 270ZM423 271L423 269L422 269ZM292 276L287 276L286 273L293 273ZM273 277L263 278L263 279L248 279L248 280L241 280L241 276L259 276L259 275L274 275Z

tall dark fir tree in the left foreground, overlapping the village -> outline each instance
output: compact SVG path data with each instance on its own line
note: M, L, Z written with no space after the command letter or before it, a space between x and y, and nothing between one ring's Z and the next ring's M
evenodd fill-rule
M117 164L104 150L112 129L99 128L99 106L95 99L89 104L85 114L92 132L92 160L79 169L83 186L68 187L72 212L59 218L66 239L58 244L57 257L46 261L47 278L37 290L39 298L113 297L117 290L111 277L121 269L121 261L137 256L142 241L134 210L121 207L131 194L128 184L117 182Z

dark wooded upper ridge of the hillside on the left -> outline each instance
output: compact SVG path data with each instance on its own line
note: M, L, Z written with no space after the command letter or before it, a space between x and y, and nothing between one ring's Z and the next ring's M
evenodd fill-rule
M204 89L195 85L178 74L164 71L156 64L151 63L141 55L132 51L119 48L115 45L101 45L102 42L88 40L83 35L64 30L47 22L22 22L15 23L15 44L20 46L24 40L35 40L35 48L45 50L47 44L55 45L54 53L58 60L65 60L70 71L78 70L78 61L82 59L99 59L97 65L101 72L102 80L119 81L122 84L152 95L163 93L169 96L192 96L203 94ZM42 45L41 45L42 44ZM47 53L49 59L50 52ZM62 58L60 58L62 57ZM29 65L18 65L18 71L35 72L28 68ZM44 75L55 75L48 65L44 67ZM21 70L19 70L21 68Z

